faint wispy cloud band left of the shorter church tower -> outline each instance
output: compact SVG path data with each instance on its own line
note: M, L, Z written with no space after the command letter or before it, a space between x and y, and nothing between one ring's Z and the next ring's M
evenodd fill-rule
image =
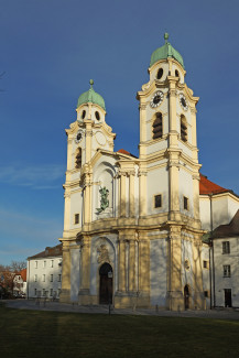
M34 189L54 189L54 182L64 178L65 166L58 164L0 166L0 183L28 186ZM44 185L42 185L44 183Z

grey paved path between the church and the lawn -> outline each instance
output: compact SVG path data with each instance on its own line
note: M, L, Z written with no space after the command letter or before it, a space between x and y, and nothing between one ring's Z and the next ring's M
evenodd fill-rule
M97 313L109 314L109 306L79 306L78 304L66 304L58 302L36 302L34 300L4 300L8 307L19 310L37 310L37 311L56 311L56 312L75 312L75 313ZM197 317L197 318L215 318L215 319L236 319L239 321L239 312L230 310L209 310L209 311L156 311L156 310L143 310L143 308L111 308L111 314L123 315L154 315L161 317Z

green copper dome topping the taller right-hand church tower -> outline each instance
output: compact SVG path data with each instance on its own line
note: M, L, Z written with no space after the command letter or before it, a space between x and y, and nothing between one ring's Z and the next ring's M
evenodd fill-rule
M150 61L150 67L155 64L155 62L160 59L166 59L167 57L173 57L176 59L184 68L184 61L181 54L167 42L169 34L164 34L165 44L162 47L156 48L152 55Z

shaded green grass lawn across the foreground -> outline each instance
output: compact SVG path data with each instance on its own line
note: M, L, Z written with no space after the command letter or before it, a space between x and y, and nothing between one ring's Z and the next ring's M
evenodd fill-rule
M0 305L0 357L239 357L239 322Z

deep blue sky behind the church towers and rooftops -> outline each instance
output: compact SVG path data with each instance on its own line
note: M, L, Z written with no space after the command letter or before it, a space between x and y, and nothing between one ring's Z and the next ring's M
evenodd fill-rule
M164 32L200 97L202 173L239 194L238 15L238 0L0 0L0 263L62 236L65 128L90 78L115 149L138 154L135 94Z

